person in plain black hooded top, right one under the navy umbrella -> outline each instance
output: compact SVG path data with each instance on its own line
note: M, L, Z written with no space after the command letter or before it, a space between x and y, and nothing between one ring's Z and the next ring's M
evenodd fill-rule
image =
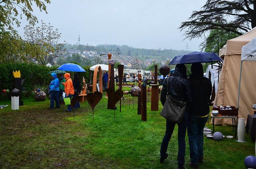
M208 120L210 111L209 102L212 94L212 83L204 77L201 63L191 65L189 77L192 104L188 120L188 142L190 147L190 167L198 168L203 160L204 125Z

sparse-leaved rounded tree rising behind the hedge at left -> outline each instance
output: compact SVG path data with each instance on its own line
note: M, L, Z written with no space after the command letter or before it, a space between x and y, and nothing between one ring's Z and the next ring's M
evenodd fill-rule
M42 22L41 27L27 25L24 28L24 39L26 42L36 46L30 58L36 59L38 64L46 65L50 61L66 54L64 43L59 43L61 33L53 26Z

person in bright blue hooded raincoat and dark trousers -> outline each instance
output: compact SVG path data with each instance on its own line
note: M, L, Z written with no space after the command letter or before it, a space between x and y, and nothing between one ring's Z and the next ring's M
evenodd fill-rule
M56 73L52 73L52 81L49 85L50 90L50 109L54 108L54 101L56 103L56 108L60 108L60 102L58 99L59 85L60 81Z

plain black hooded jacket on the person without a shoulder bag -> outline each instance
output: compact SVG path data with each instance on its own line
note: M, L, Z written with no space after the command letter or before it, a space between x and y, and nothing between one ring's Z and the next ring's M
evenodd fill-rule
M201 63L193 63L191 65L189 83L192 98L191 114L194 116L206 116L210 111L209 102L212 94L212 83L210 79L204 77Z

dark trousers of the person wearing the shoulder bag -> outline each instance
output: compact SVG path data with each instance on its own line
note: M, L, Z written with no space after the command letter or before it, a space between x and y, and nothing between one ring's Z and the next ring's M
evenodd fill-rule
M185 163L185 153L186 153L186 143L185 143L185 136L186 136L186 129L188 125L188 112L184 113L182 121L178 124L178 165L184 165ZM175 123L169 122L166 120L166 132L161 144L160 155L164 157L166 155L166 151L168 148L169 141L172 137L172 133L175 127Z

